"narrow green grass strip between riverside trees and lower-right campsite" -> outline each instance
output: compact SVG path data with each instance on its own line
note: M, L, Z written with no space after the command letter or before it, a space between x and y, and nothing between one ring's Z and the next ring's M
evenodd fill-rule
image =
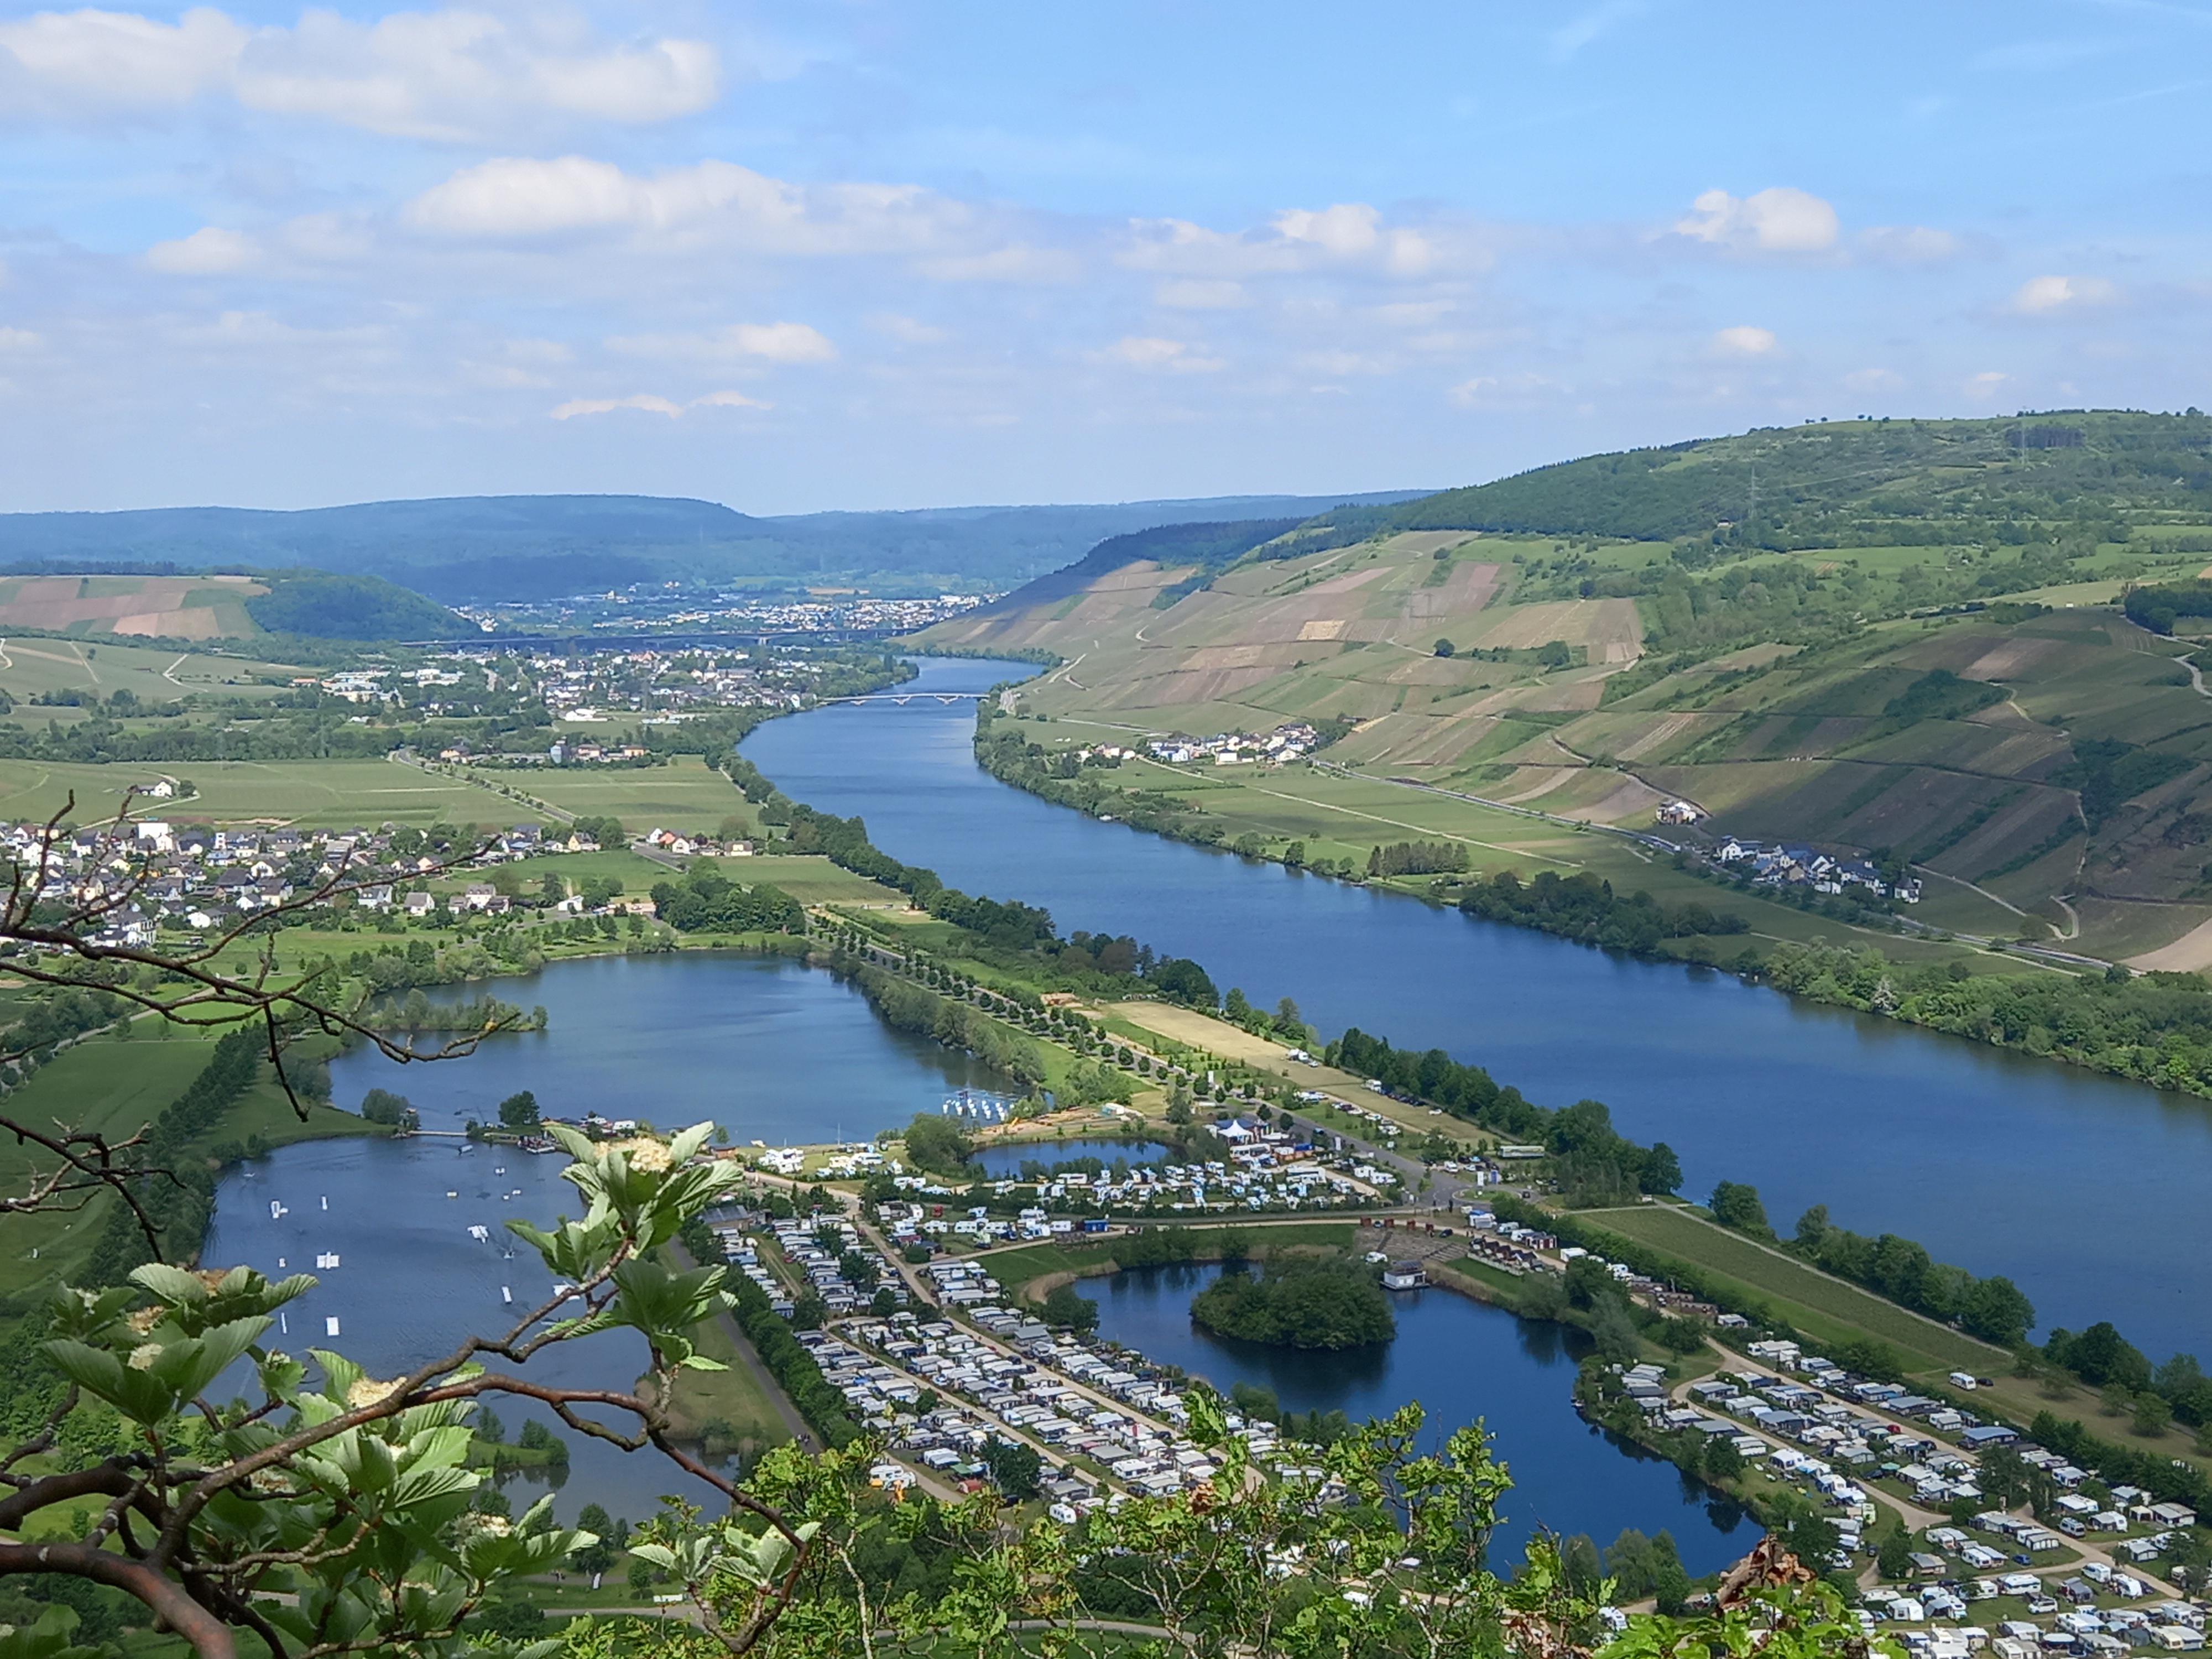
M1818 1267L1785 1256L1756 1239L1745 1239L1677 1206L1579 1212L1593 1225L1663 1250L1670 1256L1725 1276L1754 1296L1776 1303L1792 1325L1809 1336L1876 1336L1907 1349L1931 1367L1991 1371L2008 1367L2011 1354L1940 1325L1924 1314L1885 1301ZM1809 1314L1801 1321L1798 1312Z

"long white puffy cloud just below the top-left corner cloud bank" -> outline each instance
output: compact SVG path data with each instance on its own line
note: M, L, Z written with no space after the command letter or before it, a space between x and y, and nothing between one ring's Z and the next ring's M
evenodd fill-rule
M407 204L403 219L445 237L628 230L708 237L770 254L858 254L927 250L969 215L920 186L801 188L734 161L644 177L584 155L509 155L434 184Z

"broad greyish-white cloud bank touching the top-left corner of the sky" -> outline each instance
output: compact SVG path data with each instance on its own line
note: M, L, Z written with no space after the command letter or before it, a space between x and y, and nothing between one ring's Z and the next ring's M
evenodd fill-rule
M372 24L307 11L246 27L215 7L175 24L131 11L40 11L0 24L0 84L24 115L170 111L228 95L276 115L407 137L469 137L566 115L664 122L721 95L699 40L602 44L484 11L394 11Z

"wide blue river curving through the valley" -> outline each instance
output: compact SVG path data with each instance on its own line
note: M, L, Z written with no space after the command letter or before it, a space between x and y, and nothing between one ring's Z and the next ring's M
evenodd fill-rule
M1029 672L925 659L902 690ZM743 750L964 891L1192 956L1332 1033L1440 1044L1531 1099L1604 1099L1681 1152L1688 1190L1752 1181L1783 1228L1827 1203L2011 1274L2046 1327L2110 1318L2154 1358L2212 1352L2205 1102L1099 823L998 783L971 734L967 701L867 703L770 721Z

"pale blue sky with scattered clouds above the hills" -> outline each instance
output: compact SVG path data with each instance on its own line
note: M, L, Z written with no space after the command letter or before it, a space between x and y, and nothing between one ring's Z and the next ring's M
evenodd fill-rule
M2212 405L2212 0L0 0L0 511Z

